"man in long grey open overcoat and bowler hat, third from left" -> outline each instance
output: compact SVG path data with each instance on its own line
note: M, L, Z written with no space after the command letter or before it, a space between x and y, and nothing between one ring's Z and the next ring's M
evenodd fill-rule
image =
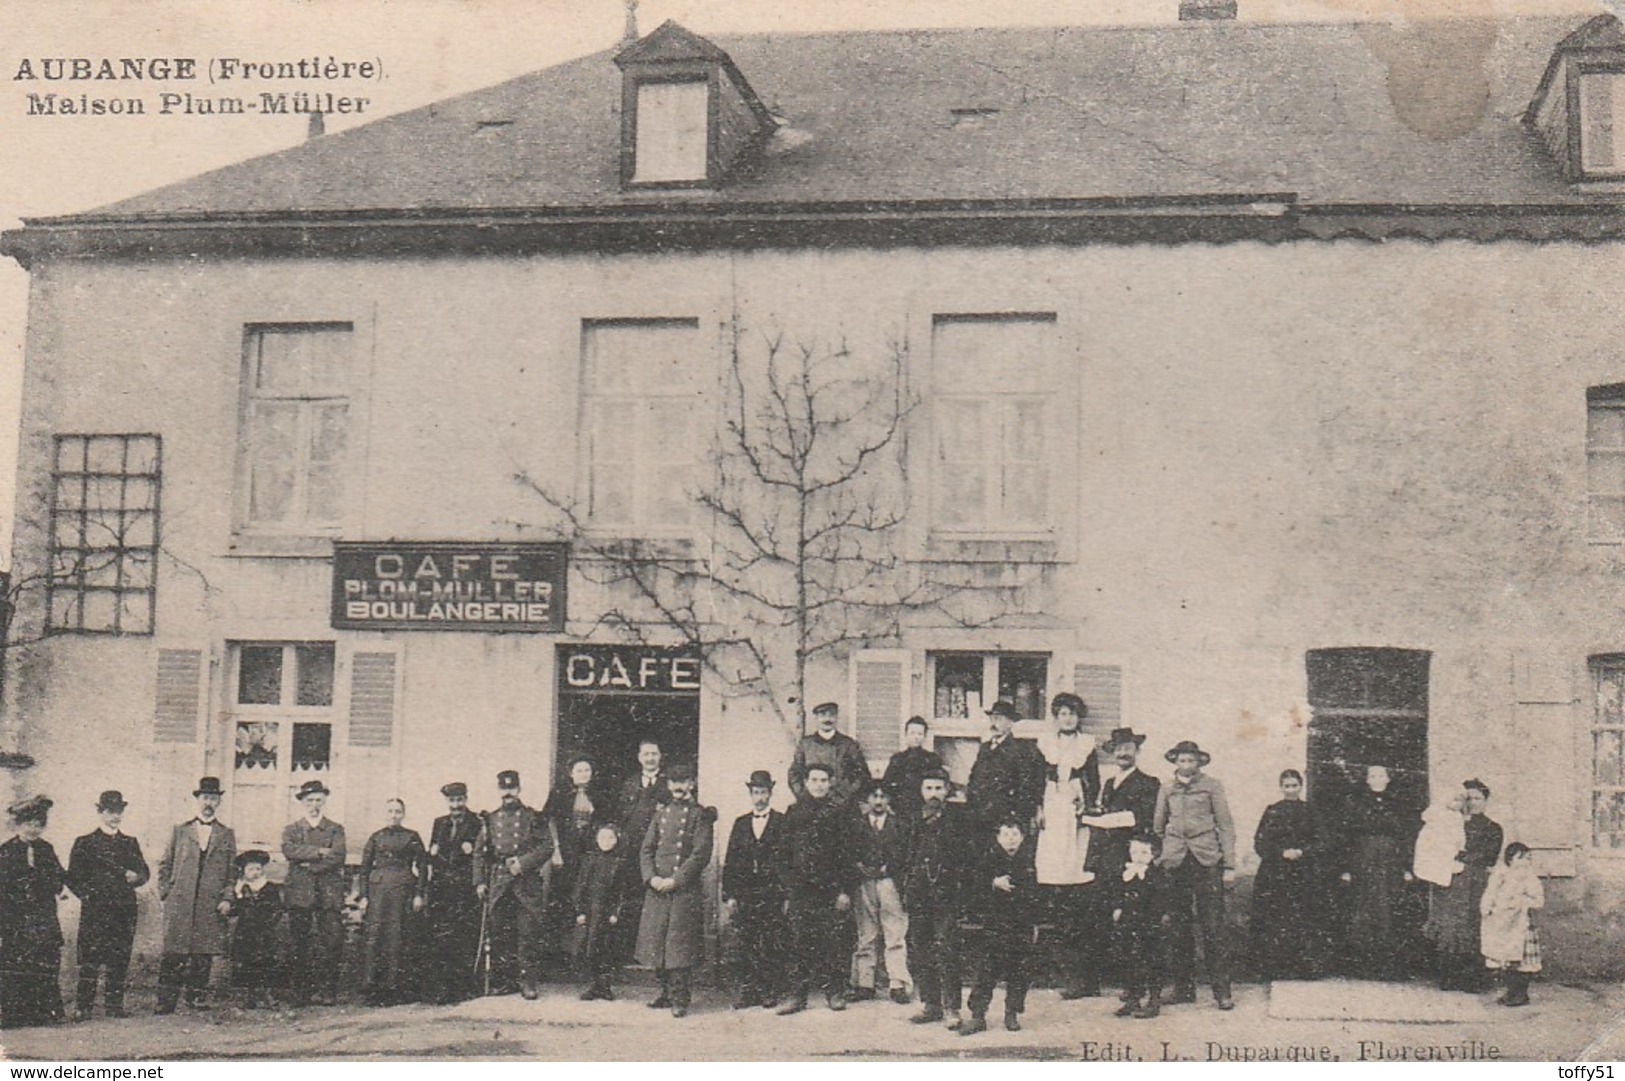
M174 1013L185 988L187 1006L208 1009L208 977L226 953L226 914L237 878L237 837L216 816L224 793L219 777L192 790L198 813L169 832L158 862L158 897L164 902L164 959L158 966L158 1013Z

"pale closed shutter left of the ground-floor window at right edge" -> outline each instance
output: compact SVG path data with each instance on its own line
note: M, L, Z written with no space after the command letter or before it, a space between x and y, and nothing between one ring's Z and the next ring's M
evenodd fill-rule
M1513 741L1528 753L1518 756L1513 774L1516 805L1513 821L1505 823L1506 840L1529 845L1540 875L1570 878L1580 831L1575 777L1591 771L1586 762L1576 774L1575 728L1581 722L1573 668L1562 658L1519 653L1513 657Z

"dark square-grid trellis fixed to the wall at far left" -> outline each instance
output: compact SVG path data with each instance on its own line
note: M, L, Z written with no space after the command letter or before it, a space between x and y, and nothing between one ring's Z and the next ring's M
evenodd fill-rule
M47 634L151 634L158 593L158 436L57 436Z

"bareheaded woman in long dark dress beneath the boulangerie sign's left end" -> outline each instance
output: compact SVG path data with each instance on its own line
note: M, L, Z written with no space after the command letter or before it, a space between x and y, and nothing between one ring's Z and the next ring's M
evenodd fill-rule
M424 870L429 853L418 831L401 826L406 805L385 805L388 826L367 837L361 852L361 899L367 927L367 1003L387 1006L408 1001L416 990L411 979L411 938L414 915L422 912Z

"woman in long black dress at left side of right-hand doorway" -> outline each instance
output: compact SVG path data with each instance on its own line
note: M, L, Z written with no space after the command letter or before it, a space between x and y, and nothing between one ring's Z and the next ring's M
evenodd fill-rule
M1280 774L1280 800L1264 808L1253 850L1259 858L1248 928L1253 964L1266 980L1321 975L1326 964L1321 850L1298 771Z

